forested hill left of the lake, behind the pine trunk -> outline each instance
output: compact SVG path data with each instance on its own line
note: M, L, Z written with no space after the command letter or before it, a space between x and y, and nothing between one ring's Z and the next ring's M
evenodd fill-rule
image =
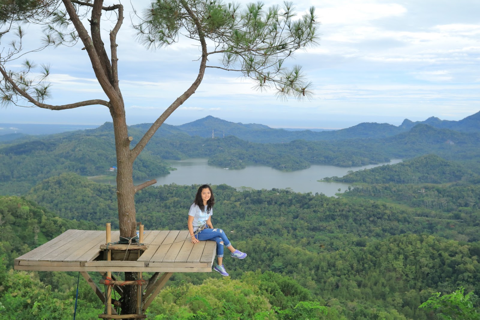
M0 145L0 194L24 194L37 182L63 172L111 174L115 179L115 172L109 169L116 163L111 123L91 130L22 138L20 143ZM133 165L136 180L167 173L168 165L148 151Z

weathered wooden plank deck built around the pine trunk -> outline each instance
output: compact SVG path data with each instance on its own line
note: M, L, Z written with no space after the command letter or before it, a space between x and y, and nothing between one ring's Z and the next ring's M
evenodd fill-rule
M112 231L112 242L120 232ZM192 244L186 230L145 231L148 248L136 261L102 261L100 245L105 231L67 230L58 237L15 259L15 270L211 272L216 257L215 241ZM135 245L130 246L131 249Z

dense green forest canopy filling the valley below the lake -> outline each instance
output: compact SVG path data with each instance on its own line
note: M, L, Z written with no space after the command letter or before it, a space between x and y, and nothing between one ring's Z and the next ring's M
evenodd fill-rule
M164 185L142 190L136 199L139 220L148 229L185 229L186 213L197 187ZM9 229L2 232L18 229L19 222L28 222L24 228L29 228L28 225L34 228L42 221L47 223L47 216L51 215L48 204L61 214L62 218L52 217L54 221L88 219L96 226L109 219L116 222L109 188L69 173L47 179L26 199L2 197L2 217L12 217L5 218L8 223L3 223L2 228ZM450 187L438 185L438 188ZM469 188L474 197L479 196L478 186ZM220 276L203 273L175 274L171 287L150 308L150 315L190 319L185 315L205 312L210 316L214 313L225 316L231 312L250 318L270 312L270 319L297 319L287 318L287 314L303 310L314 315L313 319L422 320L432 319L431 314L418 307L435 292L453 292L458 286L465 286L468 292L480 292L478 206L466 211L464 207L432 210L389 205L355 197L354 190L347 193L349 197L335 198L289 190L237 191L228 185L214 186L217 199L212 217L214 226L233 231L229 233L230 240L248 252L247 263L225 261L235 280L220 280ZM446 201L453 203L454 198ZM95 211L97 207L103 211ZM64 224L46 230L60 233L67 227L70 226ZM10 241L3 240L12 238L10 234L1 242L5 250L12 252L5 257L8 261L47 240L47 236L35 240L39 232L25 232L14 238L19 244L12 250L7 247L12 246ZM56 234L50 232L48 236ZM8 277L7 269L3 272ZM21 277L24 273L15 274ZM37 279L52 285L58 277L55 273ZM71 286L75 283L75 278L72 279ZM68 286L65 282L68 281L63 279L60 284ZM42 286L35 281L28 285ZM219 291L212 290L212 286L218 286ZM0 290L0 302L4 306L12 299L18 302L20 298L12 295L18 292L18 285L9 282L5 287ZM60 296L60 291L49 297L55 299L57 295ZM95 299L86 289L84 299L84 310L93 312L94 304L89 299L92 302ZM308 308L294 308L300 302L308 303ZM278 308L276 312L272 312L274 306Z

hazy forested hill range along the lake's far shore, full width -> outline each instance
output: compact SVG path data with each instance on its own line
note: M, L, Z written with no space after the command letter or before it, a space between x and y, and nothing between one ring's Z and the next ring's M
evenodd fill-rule
M145 129L146 125L129 129L132 145ZM210 165L222 168L262 164L283 171L305 169L312 164L348 167L436 154L445 160L460 161L478 174L479 146L480 133L437 129L426 124L396 136L374 139L294 140L278 144L252 143L232 135L215 139L185 133L154 135L134 162L134 179L142 181L167 174L165 160L196 158L199 154L208 155ZM0 194L23 194L37 182L62 172L106 174L114 179L115 172L108 169L115 163L112 123L6 144L0 147Z

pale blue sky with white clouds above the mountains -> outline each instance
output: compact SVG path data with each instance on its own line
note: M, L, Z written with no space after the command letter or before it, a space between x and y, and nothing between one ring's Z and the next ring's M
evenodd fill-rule
M132 3L140 8L148 2ZM291 61L302 65L313 82L311 101L281 101L273 92L255 91L240 74L209 68L196 93L166 123L178 125L212 115L271 127L334 129L361 122L399 125L406 118L417 121L431 116L460 120L480 110L480 1L301 0L295 4L299 13L315 6L321 22L320 45L296 53ZM128 9L130 2L124 5ZM128 124L151 123L195 79L198 49L192 42L180 41L167 49L147 50L133 40L129 25L127 17L118 40ZM33 27L27 28L27 35L32 42L39 37ZM51 104L106 98L86 52L80 49L47 49L30 57L51 65ZM0 123L106 121L110 115L103 106L70 111L0 109Z

